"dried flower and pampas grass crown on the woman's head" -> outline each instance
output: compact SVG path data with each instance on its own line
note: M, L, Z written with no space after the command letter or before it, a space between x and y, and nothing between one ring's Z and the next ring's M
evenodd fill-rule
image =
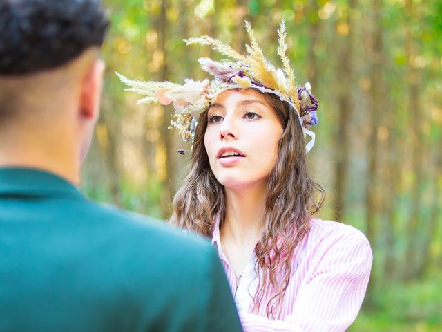
M246 45L247 55L240 55L228 44L208 36L184 40L187 45L212 46L213 49L231 58L223 62L213 61L208 57L198 60L202 69L215 77L211 81L185 80L184 84L168 81L140 82L129 80L119 73L116 74L126 84L126 91L135 91L144 95L144 98L138 100L137 104L168 105L172 103L175 114L171 127L180 131L184 141L193 141L198 116L209 108L212 100L219 93L228 89L253 88L262 93L276 94L280 100L291 104L296 111L304 136L311 137L306 145L307 152L310 151L314 145L315 134L307 128L318 124L316 114L318 100L311 93L309 82L305 86L296 85L294 71L285 54L287 51L285 21L282 21L278 28L278 55L282 60L282 69L277 69L265 58L249 22L246 21L245 26L250 37L250 45Z

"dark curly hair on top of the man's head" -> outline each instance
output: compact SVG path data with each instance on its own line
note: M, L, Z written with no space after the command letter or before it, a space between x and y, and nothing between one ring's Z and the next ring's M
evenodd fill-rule
M109 25L99 0L1 0L0 75L67 64L100 47Z

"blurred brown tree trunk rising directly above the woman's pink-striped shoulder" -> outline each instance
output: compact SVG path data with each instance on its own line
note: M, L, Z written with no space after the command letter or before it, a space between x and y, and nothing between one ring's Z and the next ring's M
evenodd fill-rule
M343 10L343 21L338 21L336 29L340 33L340 53L336 68L337 82L340 82L338 92L338 125L335 138L336 174L335 174L335 220L341 219L345 211L345 192L349 172L349 148L351 139L349 128L352 121L352 78L353 78L353 12L356 0L348 1L347 10Z

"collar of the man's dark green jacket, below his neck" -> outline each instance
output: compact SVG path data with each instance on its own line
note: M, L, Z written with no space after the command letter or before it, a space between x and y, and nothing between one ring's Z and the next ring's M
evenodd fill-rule
M0 167L0 196L85 199L77 187L41 169Z

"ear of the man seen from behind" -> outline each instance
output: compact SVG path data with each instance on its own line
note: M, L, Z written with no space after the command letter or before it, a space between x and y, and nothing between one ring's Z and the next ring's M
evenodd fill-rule
M97 59L90 66L81 83L80 116L84 118L98 118L99 101L102 92L104 62Z

